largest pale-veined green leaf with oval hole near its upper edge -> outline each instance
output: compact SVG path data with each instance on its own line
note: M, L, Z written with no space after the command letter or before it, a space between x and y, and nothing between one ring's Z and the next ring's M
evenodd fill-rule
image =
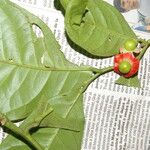
M73 102L73 96L93 77L89 67L67 61L53 34L40 19L9 1L0 2L0 12L1 112L11 112L10 119L21 119L32 112L28 105L32 104L34 109L41 95L45 95L52 105L58 99ZM32 24L41 28L44 38L35 36ZM61 114L63 109L57 107ZM15 113L18 109L23 111L19 118Z

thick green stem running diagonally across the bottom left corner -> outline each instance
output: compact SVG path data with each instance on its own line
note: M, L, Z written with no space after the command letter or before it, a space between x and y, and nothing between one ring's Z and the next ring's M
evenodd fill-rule
M19 135L24 140L26 140L29 144L31 144L36 150L44 150L41 147L41 145L28 132L24 132L22 129L17 127L2 113L0 113L0 126L6 127L13 133Z

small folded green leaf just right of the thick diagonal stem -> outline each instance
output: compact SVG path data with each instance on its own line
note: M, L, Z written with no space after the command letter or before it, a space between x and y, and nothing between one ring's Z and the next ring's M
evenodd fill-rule
M74 118L69 118L67 120L66 118L58 116L50 104L47 103L44 96L20 127L26 132L29 132L32 128L36 127L51 127L80 131L80 127Z

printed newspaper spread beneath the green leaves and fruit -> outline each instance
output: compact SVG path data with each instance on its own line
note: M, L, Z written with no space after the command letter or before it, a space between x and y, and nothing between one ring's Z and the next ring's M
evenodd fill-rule
M69 46L64 34L64 17L54 9L53 0L12 1L47 23L71 62L97 68L113 64L113 58L87 58ZM128 22L135 15L135 10L124 14ZM150 39L149 33L135 32L141 38ZM84 94L86 125L82 150L150 150L150 51L144 55L139 69L141 88L116 85L118 77L113 72L100 76ZM0 129L0 141L5 137Z

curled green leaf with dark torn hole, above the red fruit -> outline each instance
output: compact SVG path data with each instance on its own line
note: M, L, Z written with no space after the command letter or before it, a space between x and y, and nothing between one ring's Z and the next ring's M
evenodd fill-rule
M124 41L136 38L120 12L102 0L71 0L65 25L70 39L96 56L115 55Z

